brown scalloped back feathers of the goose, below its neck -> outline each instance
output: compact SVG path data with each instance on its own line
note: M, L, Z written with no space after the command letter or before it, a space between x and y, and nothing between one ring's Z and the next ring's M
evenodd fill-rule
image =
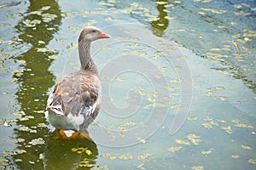
M98 96L98 81L95 75L87 71L76 71L62 77L55 85L54 102L51 106L62 105L65 116L78 116L81 108L95 104ZM64 111L65 110L65 111Z

